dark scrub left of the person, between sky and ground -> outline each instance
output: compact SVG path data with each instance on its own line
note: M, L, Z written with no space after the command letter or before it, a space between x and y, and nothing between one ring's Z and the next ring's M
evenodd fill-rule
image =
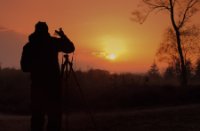
M1 69L0 111L27 113L29 106L29 75L12 68Z

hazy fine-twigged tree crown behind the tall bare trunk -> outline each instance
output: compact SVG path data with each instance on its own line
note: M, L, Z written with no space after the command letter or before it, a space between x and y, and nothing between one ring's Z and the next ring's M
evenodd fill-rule
M185 61L194 59L199 55L199 36L199 28L196 26L192 26L181 32ZM180 63L179 54L177 52L176 35L172 29L169 28L166 30L156 56L159 61L166 62L170 66L176 66L177 63ZM195 59L193 61L195 61Z

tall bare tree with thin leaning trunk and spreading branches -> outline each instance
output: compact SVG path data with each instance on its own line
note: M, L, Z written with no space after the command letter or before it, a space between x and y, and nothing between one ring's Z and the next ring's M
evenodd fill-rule
M181 31L198 12L200 0L142 0L145 12L134 11L133 20L143 23L153 11L167 11L176 36L177 52L181 63L181 85L187 86L187 72L183 54Z

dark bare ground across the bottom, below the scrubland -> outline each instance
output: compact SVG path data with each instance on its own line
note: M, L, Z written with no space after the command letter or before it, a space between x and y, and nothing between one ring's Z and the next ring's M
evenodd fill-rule
M95 113L98 131L199 131L200 104ZM0 116L0 131L30 131L30 116ZM66 127L66 119L63 124ZM85 113L71 113L69 131L96 131ZM64 131L67 131L66 129Z

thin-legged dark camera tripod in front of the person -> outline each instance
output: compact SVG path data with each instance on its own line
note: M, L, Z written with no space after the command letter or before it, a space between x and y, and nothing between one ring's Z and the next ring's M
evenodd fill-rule
M73 75L75 83L76 83L76 85L78 87L78 90L80 92L82 105L85 106L85 108L84 108L85 109L85 113L88 114L88 116L90 117L91 122L92 122L92 124L94 126L94 129L97 131L97 125L96 125L96 122L95 122L95 119L94 119L94 115L92 114L91 110L89 109L89 106L88 106L87 101L85 99L85 95L83 93L83 90L82 90L82 88L80 86L80 83L78 82L78 79L77 79L76 74L75 74L74 69L73 69L73 57L72 57L72 61L70 61L69 60L69 55L68 54L64 54L63 58L62 58L62 64L61 64L61 78L65 82L65 88L66 89L68 89L68 86L69 86L68 85L69 84L68 81L69 81L69 78L70 78L71 74ZM68 125L68 122L67 122L66 129L68 128L68 126L69 125Z

